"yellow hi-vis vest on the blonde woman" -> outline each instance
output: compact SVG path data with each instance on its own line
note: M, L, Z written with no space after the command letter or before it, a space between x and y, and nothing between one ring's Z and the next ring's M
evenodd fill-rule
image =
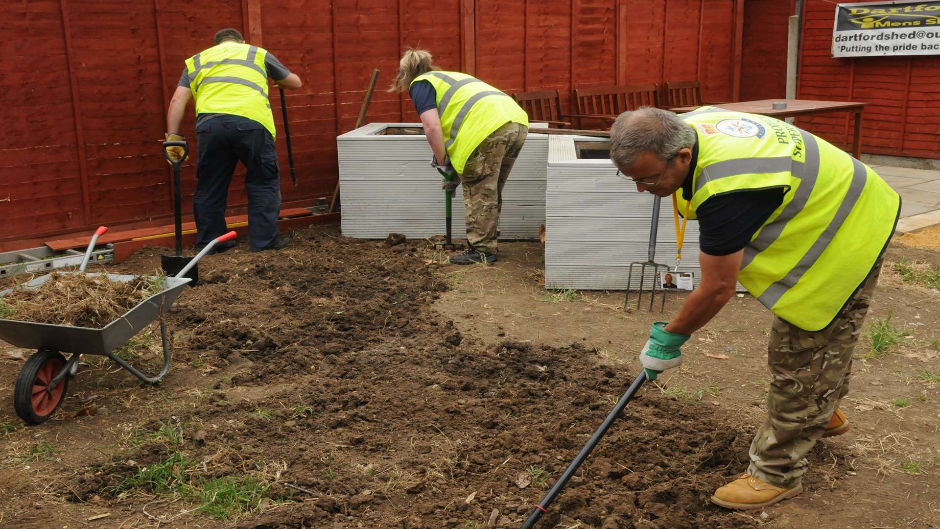
M437 92L444 146L450 164L463 174L477 146L506 123L528 126L528 115L505 93L461 72L428 72L412 81L428 81Z

